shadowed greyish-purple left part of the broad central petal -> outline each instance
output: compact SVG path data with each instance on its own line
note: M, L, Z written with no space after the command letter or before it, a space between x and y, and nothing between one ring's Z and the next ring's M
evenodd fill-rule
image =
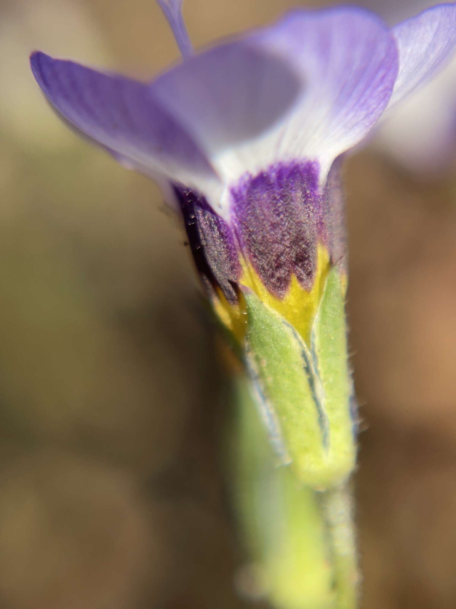
M195 55L151 85L226 184L252 168L252 143L290 115L301 86L288 57L248 37Z

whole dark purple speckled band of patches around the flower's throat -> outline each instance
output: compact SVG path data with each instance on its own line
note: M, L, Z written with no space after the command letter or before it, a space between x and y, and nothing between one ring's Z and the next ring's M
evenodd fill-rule
M319 164L277 164L232 189L232 226L201 195L174 186L195 264L207 289L219 287L229 302L237 300L242 250L264 285L285 297L292 275L307 290L314 284L317 245L331 261L345 267L344 205L338 165L323 189Z

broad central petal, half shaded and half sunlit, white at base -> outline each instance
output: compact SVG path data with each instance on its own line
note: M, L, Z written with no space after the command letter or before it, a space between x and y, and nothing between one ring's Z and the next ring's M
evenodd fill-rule
M324 181L378 120L397 69L395 41L373 13L297 10L190 58L153 90L226 183L300 159L319 160Z

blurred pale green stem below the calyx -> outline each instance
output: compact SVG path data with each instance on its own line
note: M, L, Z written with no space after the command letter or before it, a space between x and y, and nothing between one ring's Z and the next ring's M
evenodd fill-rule
M246 385L238 385L235 486L244 541L275 609L355 609L348 488L317 492L278 467Z

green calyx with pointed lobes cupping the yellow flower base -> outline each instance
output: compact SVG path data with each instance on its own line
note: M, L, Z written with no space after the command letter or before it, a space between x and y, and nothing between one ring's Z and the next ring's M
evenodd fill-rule
M311 333L302 337L250 290L246 362L269 433L300 482L323 490L354 468L344 295L334 267Z

